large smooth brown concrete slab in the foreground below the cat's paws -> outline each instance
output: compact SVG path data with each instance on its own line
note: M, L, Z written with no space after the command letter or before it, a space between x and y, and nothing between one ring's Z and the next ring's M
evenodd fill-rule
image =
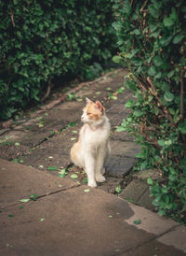
M0 253L108 256L153 239L126 223L133 211L125 201L86 189L58 192L1 213Z

